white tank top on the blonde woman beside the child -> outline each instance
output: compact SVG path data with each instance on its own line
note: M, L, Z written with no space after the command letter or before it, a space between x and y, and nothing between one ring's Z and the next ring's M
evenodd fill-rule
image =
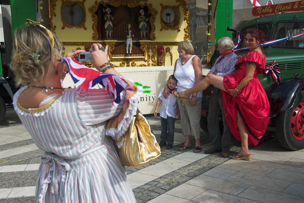
M177 79L177 91L184 91L195 85L196 77L192 65L192 59L196 57L193 55L188 61L181 65L181 58L177 59L174 76ZM199 91L197 97L202 97L203 92Z

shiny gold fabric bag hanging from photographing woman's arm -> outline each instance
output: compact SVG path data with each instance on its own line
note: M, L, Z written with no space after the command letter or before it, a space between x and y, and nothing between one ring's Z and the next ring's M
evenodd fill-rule
M123 166L143 166L161 155L160 145L152 134L147 120L138 110L128 131L122 137L125 138L124 144L118 152Z

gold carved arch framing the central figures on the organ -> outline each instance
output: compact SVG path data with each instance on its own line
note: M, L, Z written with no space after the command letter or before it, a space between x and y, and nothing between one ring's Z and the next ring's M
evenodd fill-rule
M151 31L150 31L150 35L149 38L150 40L156 40L155 37L155 19L156 19L156 15L158 14L157 10L155 10L152 7L152 4L140 4L140 2L146 2L147 0L125 0L125 1L113 1L110 0L109 2L97 2L95 1L94 5L92 7L89 8L89 12L92 14L92 21L93 21L93 25L92 25L92 30L93 30L93 36L92 39L93 40L98 40L98 17L95 14L99 5L103 4L104 6L106 5L111 5L114 7L120 7L120 6L128 6L129 8L133 8L133 7L137 7L137 6L146 6L149 9L149 13L151 14L151 16L149 17L149 23L151 26Z

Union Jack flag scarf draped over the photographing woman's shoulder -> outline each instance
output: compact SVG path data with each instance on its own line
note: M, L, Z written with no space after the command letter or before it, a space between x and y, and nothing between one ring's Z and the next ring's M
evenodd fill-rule
M126 88L127 81L117 75L100 73L71 58L60 58L69 70L76 87L90 89L101 84L113 96L113 106L121 102L120 93Z

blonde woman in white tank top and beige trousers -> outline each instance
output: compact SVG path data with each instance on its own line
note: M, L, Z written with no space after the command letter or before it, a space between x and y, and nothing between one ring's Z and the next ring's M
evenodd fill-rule
M194 55L194 48L189 41L181 41L178 43L177 51L179 59L176 60L174 66L174 76L177 79L177 91L183 91L193 87L202 79L202 65L199 57ZM168 87L166 87L168 90ZM164 96L169 91L164 91ZM185 150L191 146L191 135L195 137L196 148L195 153L199 153L201 148L200 143L200 117L202 105L202 91L192 94L185 104L180 100L177 101L180 111L180 119L182 133L185 136L185 143L178 150Z

